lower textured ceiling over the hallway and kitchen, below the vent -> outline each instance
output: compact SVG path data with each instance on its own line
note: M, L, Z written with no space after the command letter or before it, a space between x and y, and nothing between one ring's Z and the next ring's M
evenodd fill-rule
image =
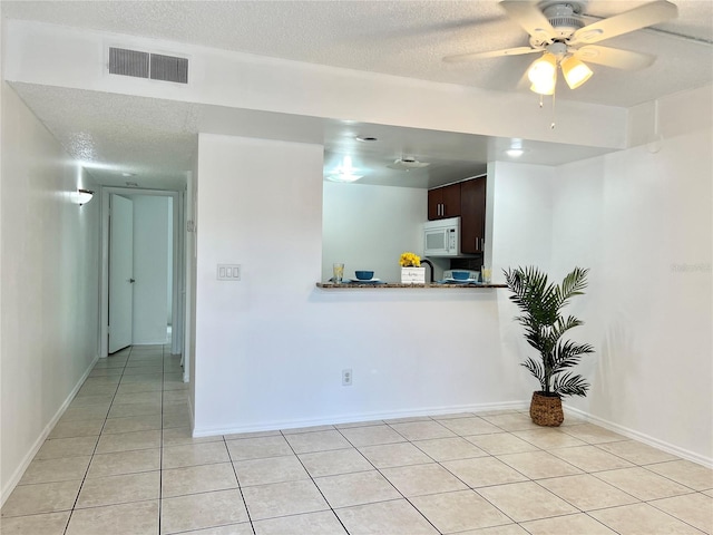
M199 132L323 144L325 167L344 154L369 169L362 184L432 187L485 173L509 139L315 117L205 106L173 100L13 82L12 88L41 118L67 152L104 185L179 189L185 184ZM379 143L355 142L368 133ZM560 165L606 149L528 142L524 162ZM393 171L395 158L417 156L423 169ZM130 173L133 176L124 176ZM407 178L408 177L408 178Z

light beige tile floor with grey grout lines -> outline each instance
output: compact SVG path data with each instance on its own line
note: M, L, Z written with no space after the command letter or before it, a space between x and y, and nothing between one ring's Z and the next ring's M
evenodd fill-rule
M192 438L167 348L95 366L4 504L2 535L713 533L713 470L572 417Z

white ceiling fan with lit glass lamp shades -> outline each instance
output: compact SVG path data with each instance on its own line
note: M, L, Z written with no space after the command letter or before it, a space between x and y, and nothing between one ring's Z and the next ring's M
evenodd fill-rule
M539 52L540 57L527 70L530 90L539 95L555 93L558 68L572 89L582 86L593 75L584 61L623 70L648 67L655 59L649 54L595 43L673 19L678 13L675 4L656 0L585 25L584 1L579 0L545 0L537 4L522 0L504 0L500 7L530 36L529 47L459 54L447 56L443 61L471 61Z

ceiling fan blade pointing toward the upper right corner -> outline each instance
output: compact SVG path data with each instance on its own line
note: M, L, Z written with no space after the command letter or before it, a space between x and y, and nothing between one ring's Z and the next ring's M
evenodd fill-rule
M641 30L647 26L657 25L673 19L677 14L678 8L675 4L666 0L657 0L579 28L567 42L568 45L599 42L604 39L611 39L629 31Z

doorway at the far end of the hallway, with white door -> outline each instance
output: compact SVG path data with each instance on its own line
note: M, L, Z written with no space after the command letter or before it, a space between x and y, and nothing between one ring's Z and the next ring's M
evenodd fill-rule
M185 194L105 187L101 202L99 354L167 344L183 356Z

